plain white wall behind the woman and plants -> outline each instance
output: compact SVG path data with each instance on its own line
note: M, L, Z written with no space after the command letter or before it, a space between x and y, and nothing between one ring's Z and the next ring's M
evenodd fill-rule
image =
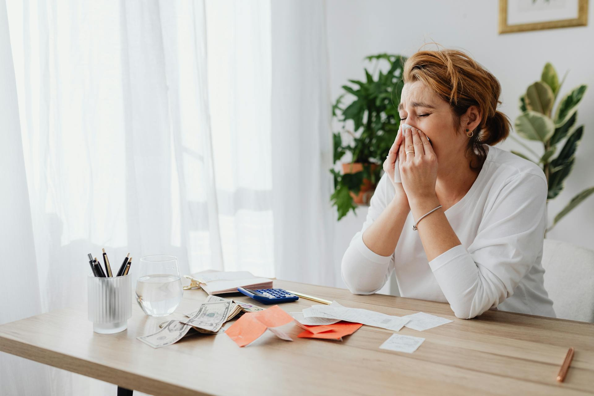
M584 125L584 137L564 191L549 202L549 219L552 221L575 194L594 185L594 53L589 49L594 39L592 5L586 27L500 35L495 0L327 0L326 4L333 100L342 92L340 87L347 79L364 78L364 56L381 52L410 56L425 42L435 41L445 47L466 50L498 78L503 102L499 110L513 123L520 113L518 98L528 85L540 80L546 62L555 66L560 78L569 69L561 95L576 85L589 85L577 120L577 125ZM498 147L526 151L511 139ZM536 142L530 147L537 153L542 151ZM334 240L337 268L350 237L361 229L366 213L366 208L361 208L358 216L350 213L337 224ZM592 248L593 221L594 195L591 195L557 223L547 237Z

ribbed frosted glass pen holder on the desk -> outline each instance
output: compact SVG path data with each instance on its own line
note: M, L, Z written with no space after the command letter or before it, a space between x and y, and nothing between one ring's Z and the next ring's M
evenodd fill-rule
M87 277L89 320L93 331L110 334L126 330L132 316L132 290L129 275L100 278Z

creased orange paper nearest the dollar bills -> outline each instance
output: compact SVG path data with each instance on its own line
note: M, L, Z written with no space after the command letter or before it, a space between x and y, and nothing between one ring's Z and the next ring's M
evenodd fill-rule
M255 341L268 327L279 327L293 321L293 317L278 305L264 311L247 312L229 327L225 334L240 347Z

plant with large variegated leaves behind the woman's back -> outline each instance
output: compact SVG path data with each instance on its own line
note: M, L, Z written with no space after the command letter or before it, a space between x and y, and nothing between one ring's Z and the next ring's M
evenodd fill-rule
M577 105L582 100L587 85L579 85L573 88L570 93L565 94L560 99L557 110L553 112L554 104L566 76L567 73L559 83L557 71L550 63L547 63L542 70L541 81L530 85L526 93L520 96L522 114L516 118L516 132L522 138L541 142L543 153L537 154L528 145L511 136L525 147L533 158L517 151L511 151L512 153L542 166L548 182L547 202L549 199L557 197L563 190L564 180L569 176L576 161L577 145L582 140L584 133L583 125L574 125L577 121ZM552 158L562 142L563 147L557 157ZM555 216L553 223L546 231L550 231L563 216L593 192L594 186L584 189L571 198L563 210Z

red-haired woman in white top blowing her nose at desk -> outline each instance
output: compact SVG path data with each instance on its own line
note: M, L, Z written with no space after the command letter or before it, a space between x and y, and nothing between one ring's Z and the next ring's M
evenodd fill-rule
M343 257L350 291L375 293L395 272L401 296L448 302L458 318L555 316L541 265L546 178L491 147L510 128L496 110L497 78L463 52L438 50L410 57L403 80L400 122L413 128L401 127Z

